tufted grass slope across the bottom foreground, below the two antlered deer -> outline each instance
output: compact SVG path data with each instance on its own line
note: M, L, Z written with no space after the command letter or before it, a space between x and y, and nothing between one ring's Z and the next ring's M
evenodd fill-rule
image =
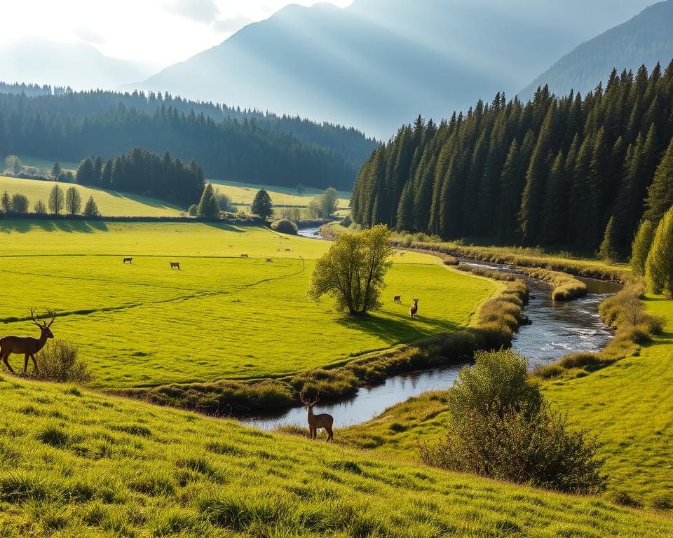
M0 378L0 536L660 537L673 523Z

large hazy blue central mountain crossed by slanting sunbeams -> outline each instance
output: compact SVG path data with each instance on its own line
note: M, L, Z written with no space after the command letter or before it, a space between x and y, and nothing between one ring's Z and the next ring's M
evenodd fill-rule
M292 5L134 87L355 125L388 139L419 113L442 117L478 97L519 90L562 50L647 4L541 0L535 10L525 0Z

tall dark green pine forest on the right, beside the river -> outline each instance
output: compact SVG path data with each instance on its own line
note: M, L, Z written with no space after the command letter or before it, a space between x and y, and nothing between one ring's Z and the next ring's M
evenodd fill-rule
M643 215L657 221L673 204L672 138L673 62L613 71L585 97L498 93L439 125L400 128L362 167L353 219L586 252L608 228L626 253Z

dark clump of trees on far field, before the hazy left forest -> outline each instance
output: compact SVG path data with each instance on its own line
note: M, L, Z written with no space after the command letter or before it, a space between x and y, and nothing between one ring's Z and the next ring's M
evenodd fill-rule
M163 198L184 207L199 200L204 186L203 169L196 160L185 165L168 151L161 157L140 147L105 161L100 155L81 160L75 181L80 185Z

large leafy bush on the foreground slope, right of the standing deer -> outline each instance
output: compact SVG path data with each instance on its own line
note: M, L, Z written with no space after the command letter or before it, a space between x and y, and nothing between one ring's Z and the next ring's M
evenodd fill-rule
M421 445L434 467L571 493L606 488L596 441L552 410L517 352L479 352L449 390L448 431Z

